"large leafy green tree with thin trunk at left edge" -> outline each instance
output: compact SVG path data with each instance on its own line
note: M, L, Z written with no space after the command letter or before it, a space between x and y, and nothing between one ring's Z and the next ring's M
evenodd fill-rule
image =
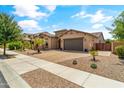
M14 20L13 16L0 13L0 43L4 46L3 55L6 55L6 44L17 40L21 35L21 28Z

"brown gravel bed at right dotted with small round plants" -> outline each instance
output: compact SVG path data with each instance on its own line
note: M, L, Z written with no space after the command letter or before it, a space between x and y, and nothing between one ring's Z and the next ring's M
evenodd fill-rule
M111 54L111 56L106 56L106 57L97 56L96 57L97 62L92 62L91 59L92 57L78 58L77 65L72 64L73 60L58 62L58 64L124 82L124 63L121 63L116 55ZM91 63L97 64L98 68L93 70L90 67Z

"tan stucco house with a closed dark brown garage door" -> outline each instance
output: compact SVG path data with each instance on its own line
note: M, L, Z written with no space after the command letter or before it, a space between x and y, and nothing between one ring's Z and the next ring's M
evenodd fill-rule
M47 49L61 49L61 50L79 50L91 49L94 43L104 42L102 32L87 33L74 29L63 29L55 31L55 35L48 32L42 32L33 35L45 39L45 48Z

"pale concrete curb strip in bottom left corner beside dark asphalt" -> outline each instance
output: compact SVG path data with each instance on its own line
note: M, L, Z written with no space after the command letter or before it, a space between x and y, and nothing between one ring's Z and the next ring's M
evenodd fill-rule
M0 70L7 81L10 88L31 88L26 81L24 81L19 74L17 74L8 64L5 62L0 63Z

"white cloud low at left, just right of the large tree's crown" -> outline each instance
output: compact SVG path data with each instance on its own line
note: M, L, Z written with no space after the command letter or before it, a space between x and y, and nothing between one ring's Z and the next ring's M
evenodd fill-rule
M19 21L18 25L22 27L25 30L28 31L37 31L37 30L42 30L42 28L38 25L38 22L35 20L23 20Z

